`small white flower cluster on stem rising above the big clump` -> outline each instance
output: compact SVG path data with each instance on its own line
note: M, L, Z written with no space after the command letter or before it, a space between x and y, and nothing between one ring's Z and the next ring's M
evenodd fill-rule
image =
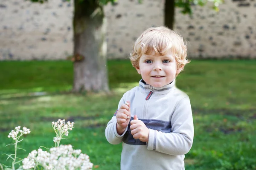
M61 120L58 119L57 122L52 122L52 128L54 129L56 133L56 137L53 138L53 142L55 142L55 146L59 146L62 137L68 136L68 130L72 130L74 127L74 122L68 121L67 124L65 124L65 119ZM57 144L57 145L56 145Z

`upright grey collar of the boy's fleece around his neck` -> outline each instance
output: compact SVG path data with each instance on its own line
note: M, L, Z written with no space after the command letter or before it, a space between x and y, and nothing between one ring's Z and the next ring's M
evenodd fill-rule
M173 88L175 88L175 79L170 84L160 88L155 88L151 85L146 84L146 82L143 79L140 80L139 85L140 92L142 92L143 94L148 94L151 90L153 90L153 94L163 95L169 93Z

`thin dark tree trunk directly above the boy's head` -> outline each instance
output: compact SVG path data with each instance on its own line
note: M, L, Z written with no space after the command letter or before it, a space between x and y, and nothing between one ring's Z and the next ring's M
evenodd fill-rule
M164 9L164 25L173 29L175 16L175 0L166 0Z

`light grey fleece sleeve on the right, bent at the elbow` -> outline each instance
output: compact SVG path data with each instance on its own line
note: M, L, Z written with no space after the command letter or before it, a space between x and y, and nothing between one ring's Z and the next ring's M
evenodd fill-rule
M148 150L156 150L169 155L184 155L192 147L194 126L189 97L176 105L171 118L172 132L163 133L149 129Z

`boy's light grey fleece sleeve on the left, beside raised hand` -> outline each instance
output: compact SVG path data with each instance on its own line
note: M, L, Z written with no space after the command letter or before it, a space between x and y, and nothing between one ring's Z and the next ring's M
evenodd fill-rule
M125 94L124 94L125 96ZM124 96L122 97L122 99L119 101L119 104L118 104L118 109L117 111L119 110L119 108L121 107L122 104L125 103L125 99L124 99ZM105 136L106 136L106 139L108 140L109 143L111 144L119 144L122 142L122 138L123 136L125 135L125 132L127 131L128 127L126 127L124 133L122 133L122 135L119 135L117 133L117 130L116 130L116 115L114 114L114 116L112 117L112 119L108 122L108 125L105 129Z

